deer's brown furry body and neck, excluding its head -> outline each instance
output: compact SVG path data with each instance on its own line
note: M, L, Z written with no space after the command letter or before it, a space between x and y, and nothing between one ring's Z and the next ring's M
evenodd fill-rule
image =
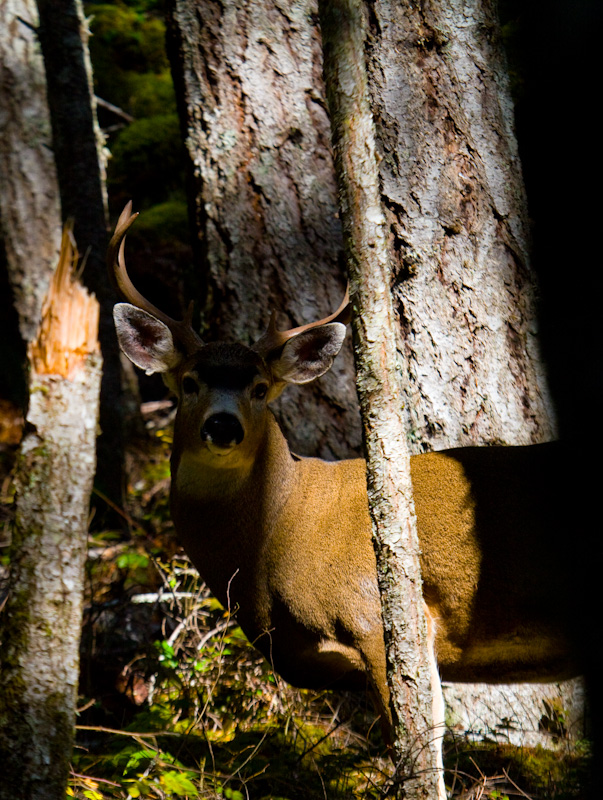
M411 460L424 596L445 680L577 671L560 591L567 550L546 556L542 570L558 449L464 448ZM387 698L365 463L298 459L270 416L247 476L215 472L186 446L174 458L174 521L212 591L290 683L357 686L364 673ZM208 497L216 482L218 495Z

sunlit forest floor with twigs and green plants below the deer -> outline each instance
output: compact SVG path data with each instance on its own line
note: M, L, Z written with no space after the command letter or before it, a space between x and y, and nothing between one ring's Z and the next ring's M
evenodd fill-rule
M91 520L69 795L391 796L393 770L368 697L287 686L200 581L169 518L171 404L142 411L144 430L128 452L127 507L118 510L124 525ZM15 453L14 441L0 444L4 575ZM530 750L449 736L445 753L455 798L584 796L586 743Z

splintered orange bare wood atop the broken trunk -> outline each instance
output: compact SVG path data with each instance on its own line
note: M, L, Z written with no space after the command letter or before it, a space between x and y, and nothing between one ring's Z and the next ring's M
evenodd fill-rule
M71 378L89 355L98 352L99 305L79 282L77 261L72 226L67 223L38 334L29 346L29 360L38 375Z

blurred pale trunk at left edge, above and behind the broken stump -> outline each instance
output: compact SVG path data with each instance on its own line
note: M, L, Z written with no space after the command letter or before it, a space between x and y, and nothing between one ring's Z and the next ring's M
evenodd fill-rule
M33 0L0 2L0 246L25 342L36 333L61 230L37 24Z

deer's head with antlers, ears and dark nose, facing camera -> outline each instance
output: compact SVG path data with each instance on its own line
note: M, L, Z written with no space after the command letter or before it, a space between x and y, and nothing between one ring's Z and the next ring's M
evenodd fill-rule
M198 432L208 457L253 451L267 404L288 383L308 383L330 369L345 337L348 293L335 313L290 330L278 330L273 313L266 332L251 347L205 344L191 324L192 303L184 319L174 320L132 284L124 247L136 217L129 203L108 251L110 272L129 301L117 304L113 312L119 345L147 374L162 374L178 395L179 415L186 419L189 435Z

